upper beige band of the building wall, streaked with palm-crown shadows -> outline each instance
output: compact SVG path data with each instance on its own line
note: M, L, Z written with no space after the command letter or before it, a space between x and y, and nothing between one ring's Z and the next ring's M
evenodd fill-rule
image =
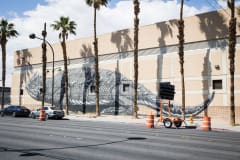
M229 15L226 11L216 11L187 17L185 21L185 43L201 42L212 39L221 39L228 36ZM229 13L230 14L230 13ZM237 16L238 21L240 17ZM139 29L139 49L171 46L178 44L177 21L160 22L142 26ZM237 35L240 29L237 27ZM93 38L81 38L67 42L68 57L81 58L94 54ZM98 36L99 55L113 54L133 50L133 29L116 31ZM56 52L55 60L62 60L62 49L59 43L52 45ZM48 61L52 61L51 49L48 48ZM34 55L34 56L33 56ZM30 64L41 63L41 47L25 50ZM15 54L14 67L18 67L18 56Z

